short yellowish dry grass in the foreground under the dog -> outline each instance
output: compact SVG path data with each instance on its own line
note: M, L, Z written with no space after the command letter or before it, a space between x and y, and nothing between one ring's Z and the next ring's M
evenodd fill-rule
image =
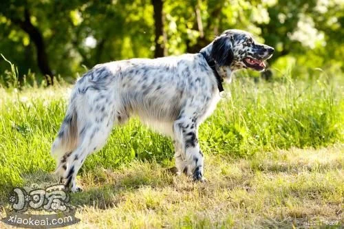
M209 155L206 183L176 176L172 163L134 161L85 171L79 176L83 193L71 198L81 219L76 228L343 226L343 149L292 149L250 160ZM46 173L26 178L56 180Z

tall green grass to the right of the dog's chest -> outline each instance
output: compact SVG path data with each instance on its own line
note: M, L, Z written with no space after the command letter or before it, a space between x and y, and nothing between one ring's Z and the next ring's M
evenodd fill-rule
M209 150L241 156L256 151L317 147L343 141L343 87L327 80L275 83L241 79L230 85L201 128Z

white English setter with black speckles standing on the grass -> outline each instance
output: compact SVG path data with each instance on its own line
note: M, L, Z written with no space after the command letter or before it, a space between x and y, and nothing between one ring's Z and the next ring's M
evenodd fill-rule
M76 82L65 119L52 144L56 174L71 191L87 155L105 145L114 125L138 116L171 136L178 173L203 181L198 127L219 102L233 72L265 69L274 49L242 30L226 30L197 54L133 58L96 65Z

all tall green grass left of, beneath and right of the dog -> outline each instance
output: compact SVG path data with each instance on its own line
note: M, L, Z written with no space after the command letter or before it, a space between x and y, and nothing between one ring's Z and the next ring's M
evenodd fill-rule
M235 80L217 110L200 127L206 154L250 157L257 151L318 147L343 142L343 87L326 78L275 83ZM13 86L15 87L15 86ZM51 172L50 146L65 115L69 86L1 89L0 195L36 171ZM105 148L82 171L115 168L132 160L171 164L173 146L138 120L115 128Z

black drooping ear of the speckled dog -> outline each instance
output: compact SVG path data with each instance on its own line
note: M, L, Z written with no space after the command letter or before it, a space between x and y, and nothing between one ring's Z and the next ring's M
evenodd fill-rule
M219 67L230 66L233 62L233 36L224 35L219 36L213 41L213 48L211 50L211 58L217 63Z

